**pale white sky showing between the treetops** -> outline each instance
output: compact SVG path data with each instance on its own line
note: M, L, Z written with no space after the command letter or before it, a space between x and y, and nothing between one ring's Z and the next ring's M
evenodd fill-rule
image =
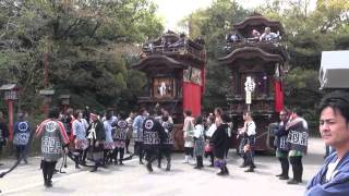
M158 5L158 15L165 19L165 30L180 30L177 26L183 17L197 9L205 9L214 0L153 0ZM265 0L238 0L243 8L255 8Z

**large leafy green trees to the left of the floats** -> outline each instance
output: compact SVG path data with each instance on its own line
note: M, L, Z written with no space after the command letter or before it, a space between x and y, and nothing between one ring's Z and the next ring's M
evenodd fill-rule
M0 78L21 86L19 108L38 111L37 103L24 105L41 100L45 53L50 86L71 94L73 107L100 109L124 99L132 108L128 101L136 101L144 77L129 69L129 51L164 30L153 2L1 0L0 7Z

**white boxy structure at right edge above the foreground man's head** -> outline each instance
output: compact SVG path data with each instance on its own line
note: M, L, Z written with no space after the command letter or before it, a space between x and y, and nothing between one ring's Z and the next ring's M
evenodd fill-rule
M320 89L349 88L349 50L323 51L318 81Z

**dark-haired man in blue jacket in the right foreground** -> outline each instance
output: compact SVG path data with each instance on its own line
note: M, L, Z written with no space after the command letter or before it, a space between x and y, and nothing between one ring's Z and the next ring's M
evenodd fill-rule
M320 133L335 148L306 187L306 196L349 195L349 94L333 91L320 103Z

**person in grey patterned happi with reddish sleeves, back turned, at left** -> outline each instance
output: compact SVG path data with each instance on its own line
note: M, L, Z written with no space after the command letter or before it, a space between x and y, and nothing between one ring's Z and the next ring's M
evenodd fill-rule
M36 136L41 137L41 169L45 186L51 187L57 161L62 157L63 149L68 154L69 137L63 123L58 121L58 108L51 108L48 118L37 127Z

